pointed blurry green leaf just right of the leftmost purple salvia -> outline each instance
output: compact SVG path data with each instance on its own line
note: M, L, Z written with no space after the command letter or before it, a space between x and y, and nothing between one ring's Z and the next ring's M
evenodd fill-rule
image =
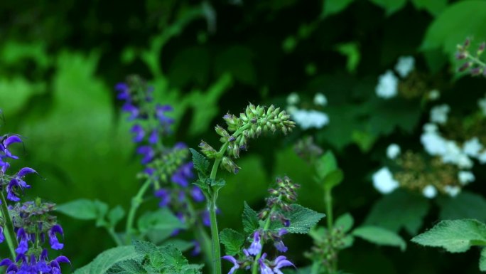
M107 213L108 206L101 201L79 199L56 206L56 210L72 218L80 220L95 220L103 218Z

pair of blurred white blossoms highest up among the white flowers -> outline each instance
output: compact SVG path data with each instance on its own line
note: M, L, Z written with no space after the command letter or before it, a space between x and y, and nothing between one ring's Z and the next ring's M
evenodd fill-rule
M406 78L414 70L415 59L412 56L401 56L395 65L396 73L401 78ZM384 74L379 75L378 85L375 89L377 96L383 99L394 98L398 94L399 78L396 77L392 70L387 70Z

